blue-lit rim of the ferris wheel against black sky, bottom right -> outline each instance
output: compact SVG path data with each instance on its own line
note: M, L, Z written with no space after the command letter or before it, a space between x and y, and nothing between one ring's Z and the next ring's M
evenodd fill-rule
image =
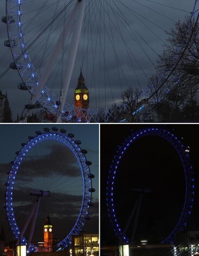
M170 144L176 149L179 158L183 164L184 176L185 176L185 200L183 205L183 210L179 220L172 230L172 232L165 238L162 243L170 243L174 242L175 234L177 232L181 232L184 227L187 225L188 217L191 213L192 205L194 203L194 172L192 170L191 160L189 157L189 147L184 146L181 140L177 138L172 132L169 132L166 129L161 128L146 128L140 129L138 132L132 133L129 138L127 138L123 144L118 148L118 151L113 157L112 165L110 167L110 171L108 173L107 178L107 188L106 188L106 202L107 202L107 210L108 216L110 217L110 221L113 226L113 230L115 234L121 241L129 243L129 238L125 234L123 234L123 230L120 227L120 224L117 220L117 213L114 207L114 183L115 176L117 175L118 166L120 161L125 154L125 151L132 145L134 141L139 140L145 136L159 136L166 141L170 142Z

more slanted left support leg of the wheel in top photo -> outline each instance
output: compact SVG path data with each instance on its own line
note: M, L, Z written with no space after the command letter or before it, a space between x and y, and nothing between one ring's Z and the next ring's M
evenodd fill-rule
M48 63L46 67L44 68L43 75L40 79L40 83L35 89L35 92L30 100L29 104L35 104L37 101L37 98L40 96L42 89L44 88L44 85L47 83L47 80L50 76L50 73L53 70L53 67L55 65L55 61L59 55L59 52L61 51L61 48L63 47L64 41L66 40L68 33L73 26L73 23L75 21L76 13L78 12L79 4L78 2L75 3L72 12L70 13L69 18L65 21L63 24L63 28L60 32L59 38L57 39L56 45L54 47L54 51L50 55L50 58L48 60Z

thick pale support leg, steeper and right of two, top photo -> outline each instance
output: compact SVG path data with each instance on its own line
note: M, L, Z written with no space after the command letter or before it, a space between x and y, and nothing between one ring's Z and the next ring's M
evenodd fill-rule
M81 28L82 28L82 22L84 18L84 11L85 11L85 6L86 6L86 0L81 0L80 2L78 1L79 4L79 13L76 17L75 21L75 26L73 30L73 38L72 41L70 42L70 49L69 49L69 55L68 55L68 60L66 64L66 72L65 72L65 77L63 78L63 90L61 93L60 97L60 108L59 108L59 113L57 116L57 122L61 122L61 114L63 111L63 108L65 106L66 102L66 96L70 84L70 79L72 77L72 72L75 64L75 58L76 58L76 53L78 51L78 44L79 44L79 39L80 39L80 33L81 33Z

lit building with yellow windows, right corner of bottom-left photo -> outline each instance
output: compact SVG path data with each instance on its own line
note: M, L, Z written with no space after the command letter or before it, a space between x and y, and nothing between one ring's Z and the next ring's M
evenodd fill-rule
M99 234L79 234L72 236L72 255L94 255L99 254Z

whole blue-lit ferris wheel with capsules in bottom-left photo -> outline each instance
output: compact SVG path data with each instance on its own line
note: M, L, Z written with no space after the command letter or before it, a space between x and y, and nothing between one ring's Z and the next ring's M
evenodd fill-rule
M51 132L49 128L44 128L44 133L37 130L36 136L22 143L11 162L5 209L15 239L32 249L33 240L43 239L39 233L47 214L55 224L54 235L62 238L57 250L68 247L71 236L79 234L91 218L95 192L89 168L92 163L86 159L81 141L65 133L56 127Z

